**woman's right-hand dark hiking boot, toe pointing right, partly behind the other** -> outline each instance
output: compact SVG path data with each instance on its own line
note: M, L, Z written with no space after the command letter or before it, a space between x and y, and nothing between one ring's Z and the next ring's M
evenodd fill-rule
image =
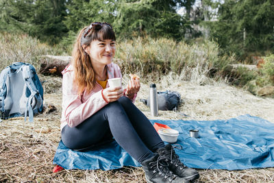
M182 149L181 145L172 146L171 144L168 144L165 147L158 149L157 152L160 158L163 158L169 164L169 169L175 173L175 175L190 181L198 179L200 177L198 171L186 167L186 165L179 160L179 156L175 154L173 148L178 149L178 147L181 147Z

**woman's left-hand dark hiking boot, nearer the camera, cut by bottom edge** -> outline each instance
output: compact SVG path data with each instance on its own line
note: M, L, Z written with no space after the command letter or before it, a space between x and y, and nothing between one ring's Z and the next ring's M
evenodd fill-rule
M180 178L169 170L169 164L161 159L158 154L144 160L142 169L145 171L145 179L148 183L187 183L188 180Z

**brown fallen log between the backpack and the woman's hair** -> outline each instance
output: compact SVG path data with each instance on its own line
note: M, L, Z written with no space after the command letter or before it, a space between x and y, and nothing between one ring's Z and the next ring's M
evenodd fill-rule
M62 71L71 62L71 56L42 56L40 59L40 73L42 75L62 76Z

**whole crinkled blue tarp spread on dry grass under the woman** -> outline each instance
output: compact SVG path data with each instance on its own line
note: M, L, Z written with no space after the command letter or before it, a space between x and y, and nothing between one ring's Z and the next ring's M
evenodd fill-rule
M228 120L174 121L151 120L179 131L175 149L188 167L198 169L251 169L274 167L274 123L249 114ZM199 130L199 138L189 136L189 130ZM118 169L140 167L116 143L92 151L73 151L60 142L53 164L64 169Z

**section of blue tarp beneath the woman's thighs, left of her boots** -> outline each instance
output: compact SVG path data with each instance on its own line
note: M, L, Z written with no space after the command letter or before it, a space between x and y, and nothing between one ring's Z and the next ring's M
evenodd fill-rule
M53 164L64 169L119 169L123 166L140 167L140 163L129 156L115 141L90 151L73 151L60 141Z

